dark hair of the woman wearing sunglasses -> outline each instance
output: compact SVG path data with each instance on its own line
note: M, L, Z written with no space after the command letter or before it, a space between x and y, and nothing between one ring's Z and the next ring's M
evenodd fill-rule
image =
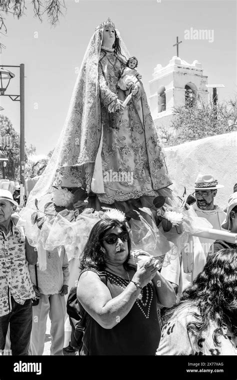
M117 219L101 219L99 220L90 231L87 243L85 244L84 250L81 254L80 269L84 268L94 268L96 270L105 269L105 258L106 250L102 245L101 239L104 237L105 233L113 227L120 227L122 231L125 231L129 235L127 241L128 247L128 257L130 255L131 240L130 234L127 229L125 222L119 222ZM124 263L126 264L126 263Z

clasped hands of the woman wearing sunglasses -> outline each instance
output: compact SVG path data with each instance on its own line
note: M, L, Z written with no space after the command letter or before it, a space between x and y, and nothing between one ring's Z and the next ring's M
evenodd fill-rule
M139 261L136 264L136 273L132 279L137 282L141 287L147 285L157 272L156 265L158 260L155 260L152 256Z

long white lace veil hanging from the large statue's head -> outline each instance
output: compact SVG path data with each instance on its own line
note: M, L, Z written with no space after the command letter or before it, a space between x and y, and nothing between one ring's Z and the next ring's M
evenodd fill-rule
M103 28L96 29L90 39L77 76L72 97L59 140L53 154L29 194L26 207L33 207L34 199L51 193L57 168L94 162L98 150L101 120L98 85L98 63ZM121 54L127 59L129 53L120 38Z

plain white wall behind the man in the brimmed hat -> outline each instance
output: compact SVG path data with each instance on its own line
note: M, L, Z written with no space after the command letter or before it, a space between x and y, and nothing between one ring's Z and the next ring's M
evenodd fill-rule
M225 208L228 196L237 182L237 132L190 141L164 148L169 178L178 193L183 186L193 186L197 174L212 174L224 185L216 194L215 204ZM172 188L171 187L171 188ZM194 190L187 190L190 194Z

